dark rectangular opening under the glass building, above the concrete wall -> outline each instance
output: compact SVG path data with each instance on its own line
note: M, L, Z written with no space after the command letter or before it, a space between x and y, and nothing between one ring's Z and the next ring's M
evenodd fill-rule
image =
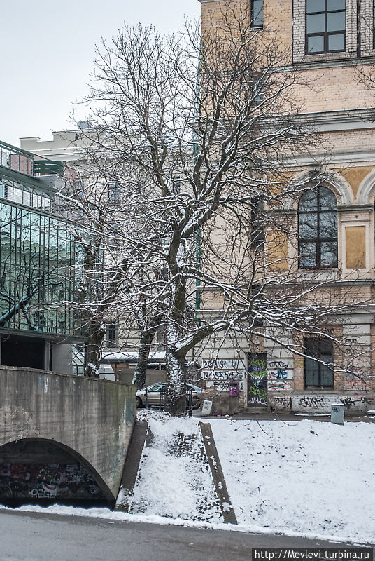
M45 339L1 336L1 365L45 368Z

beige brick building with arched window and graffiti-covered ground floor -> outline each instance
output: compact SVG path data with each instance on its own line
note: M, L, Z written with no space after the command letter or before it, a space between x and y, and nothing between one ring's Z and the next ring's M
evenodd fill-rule
M204 29L215 26L226 6L246 8L254 32L273 33L278 47L290 52L285 70L299 72L295 96L303 109L296 119L308 123L318 141L309 153L284 158L290 182L306 177L306 191L290 205L298 243L279 240L278 268L295 267L297 275L325 283L322 302L332 295L362 302L331 319L332 339L314 334L303 338L305 354L321 363L267 338L257 337L251 344L243 339L236 345L229 338L213 340L202 351L208 395L222 412L268 407L328 413L337 402L344 403L348 414L371 410L375 123L368 76L375 62L373 1L200 1ZM316 168L323 180L309 189L309 173ZM343 345L334 344L335 337ZM295 334L284 332L281 339L292 346Z

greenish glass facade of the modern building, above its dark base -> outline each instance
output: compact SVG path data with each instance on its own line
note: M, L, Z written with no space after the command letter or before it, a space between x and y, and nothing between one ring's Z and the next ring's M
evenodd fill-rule
M0 330L76 334L82 250L57 218L54 193L0 165Z

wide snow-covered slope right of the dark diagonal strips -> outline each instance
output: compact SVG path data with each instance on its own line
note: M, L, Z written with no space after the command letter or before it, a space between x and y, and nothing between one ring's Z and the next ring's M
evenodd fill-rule
M211 421L239 523L375 542L375 426Z

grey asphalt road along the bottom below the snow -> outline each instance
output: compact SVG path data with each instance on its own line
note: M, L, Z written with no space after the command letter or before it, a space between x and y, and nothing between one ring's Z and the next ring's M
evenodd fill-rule
M1 561L250 561L254 547L338 547L327 541L0 511Z

